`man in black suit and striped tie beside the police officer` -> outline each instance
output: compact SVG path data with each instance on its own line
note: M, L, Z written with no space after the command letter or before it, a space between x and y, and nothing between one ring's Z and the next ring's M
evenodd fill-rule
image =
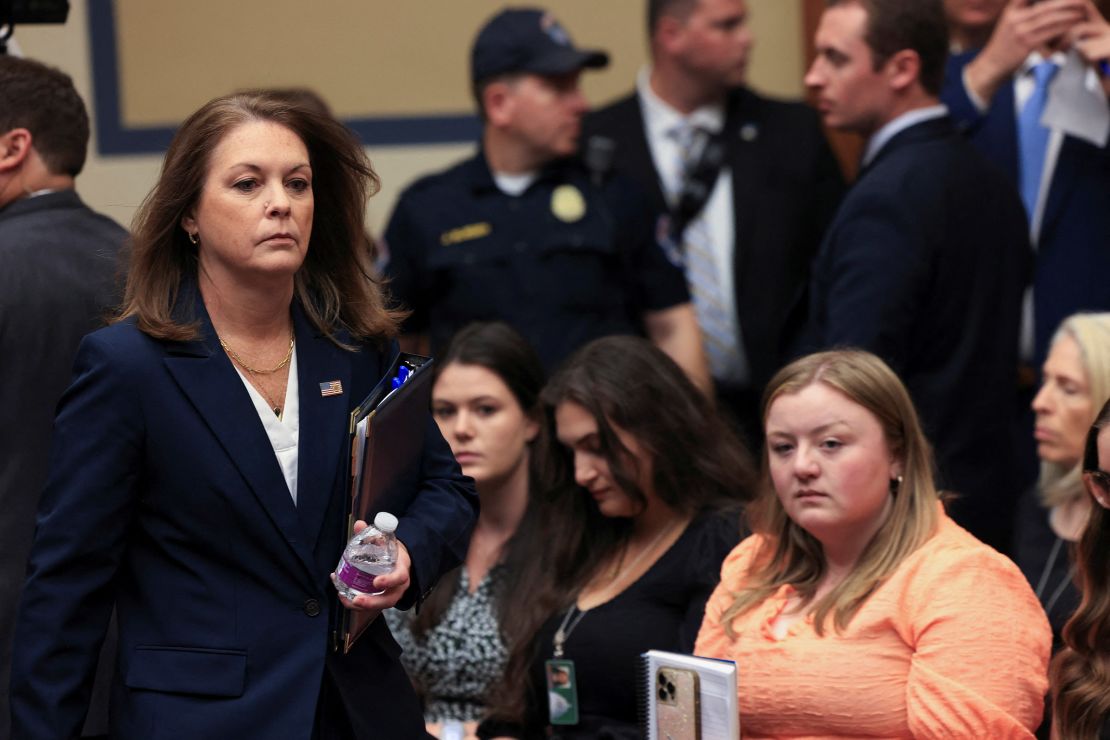
M745 0L649 0L648 32L650 69L633 94L586 118L586 155L612 142L613 166L670 211L673 227L698 152L720 146L722 161L702 175L708 195L675 241L718 396L755 433L759 394L795 338L788 316L844 182L811 110L744 87Z

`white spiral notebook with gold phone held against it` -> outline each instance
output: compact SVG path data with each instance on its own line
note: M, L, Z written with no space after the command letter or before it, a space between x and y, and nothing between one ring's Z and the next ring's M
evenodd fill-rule
M680 652L640 657L639 720L647 740L738 740L736 663Z

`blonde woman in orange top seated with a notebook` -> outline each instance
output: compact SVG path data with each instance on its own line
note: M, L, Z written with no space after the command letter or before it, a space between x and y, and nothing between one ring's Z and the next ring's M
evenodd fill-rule
M804 357L771 379L764 423L757 534L725 560L694 649L736 660L744 737L1032 738L1048 620L945 514L894 372Z

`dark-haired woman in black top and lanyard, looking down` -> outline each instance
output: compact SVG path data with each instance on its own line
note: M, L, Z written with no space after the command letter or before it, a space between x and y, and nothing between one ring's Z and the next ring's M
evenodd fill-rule
M509 661L483 737L546 737L548 659L577 722L562 738L639 737L639 655L689 652L755 475L747 450L665 354L635 337L579 349L542 395L541 485L511 557ZM573 665L573 672L569 666Z

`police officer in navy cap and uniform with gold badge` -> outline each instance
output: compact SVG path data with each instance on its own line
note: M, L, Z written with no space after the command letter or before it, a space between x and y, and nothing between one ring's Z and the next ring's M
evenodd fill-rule
M516 327L552 369L586 342L645 334L700 387L709 376L677 255L656 241L635 185L574 155L585 68L549 13L505 10L480 31L471 72L482 149L401 196L385 268L431 349L472 321Z

